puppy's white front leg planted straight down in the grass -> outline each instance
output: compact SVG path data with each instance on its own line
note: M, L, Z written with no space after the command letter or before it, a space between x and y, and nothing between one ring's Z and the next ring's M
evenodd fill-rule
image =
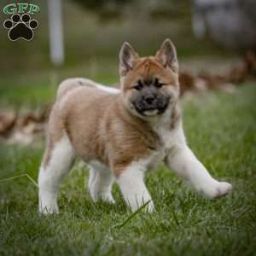
M154 203L148 193L148 189L146 188L143 177L144 171L142 170L141 166L131 164L131 166L125 168L117 179L124 199L127 205L131 207L132 212L135 212L139 207L142 207L143 204L147 203L148 201L148 212L154 211Z

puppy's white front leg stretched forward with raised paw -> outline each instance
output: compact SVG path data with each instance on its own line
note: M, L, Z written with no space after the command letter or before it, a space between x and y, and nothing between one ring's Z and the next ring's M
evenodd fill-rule
M186 145L173 148L172 153L167 157L167 164L174 172L177 172L177 175L189 180L195 189L209 198L227 195L232 189L230 183L218 182L211 177Z

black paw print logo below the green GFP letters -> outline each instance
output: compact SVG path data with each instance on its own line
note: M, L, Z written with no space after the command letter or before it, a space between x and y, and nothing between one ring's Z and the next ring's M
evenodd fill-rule
M3 26L9 29L9 39L11 41L16 41L20 38L31 41L34 37L33 30L38 28L38 21L31 20L28 14L22 16L15 14L11 16L10 20L5 20Z

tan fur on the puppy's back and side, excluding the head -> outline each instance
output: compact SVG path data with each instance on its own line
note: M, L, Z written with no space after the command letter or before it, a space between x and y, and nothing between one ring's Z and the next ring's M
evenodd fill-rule
M88 87L76 88L55 103L49 119L46 164L52 145L61 139L63 132L67 132L84 161L100 160L112 166L117 176L132 160L157 147L156 134L124 108L121 95Z

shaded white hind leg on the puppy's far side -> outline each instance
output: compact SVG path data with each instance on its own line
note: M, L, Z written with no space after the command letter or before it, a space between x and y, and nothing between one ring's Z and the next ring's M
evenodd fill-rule
M99 164L90 163L89 190L93 201L102 199L114 203L111 193L114 182L113 173Z

